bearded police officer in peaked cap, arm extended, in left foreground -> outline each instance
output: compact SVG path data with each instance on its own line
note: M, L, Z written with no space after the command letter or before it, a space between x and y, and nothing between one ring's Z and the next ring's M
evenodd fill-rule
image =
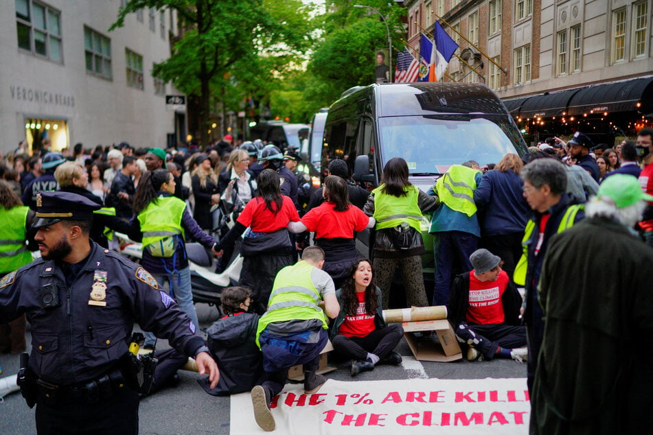
M99 208L76 193L39 193L41 259L0 280L0 322L26 313L32 325L21 390L28 405L36 403L39 434L138 432L128 353L135 321L195 357L199 373L218 384L204 340L152 275L89 239Z

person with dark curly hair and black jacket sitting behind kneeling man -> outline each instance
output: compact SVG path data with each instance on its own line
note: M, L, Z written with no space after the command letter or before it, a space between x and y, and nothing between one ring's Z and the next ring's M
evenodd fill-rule
M224 317L207 329L207 344L220 368L220 381L210 387L209 378L198 384L211 396L228 396L250 391L263 381L263 354L256 345L256 328L260 316L249 313L251 290L227 287L220 301Z

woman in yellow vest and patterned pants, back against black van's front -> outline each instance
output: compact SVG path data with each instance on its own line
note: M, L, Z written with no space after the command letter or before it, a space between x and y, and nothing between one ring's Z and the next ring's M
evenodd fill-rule
M363 211L376 219L374 270L381 289L383 308L390 299L390 284L397 267L402 274L406 306L425 307L422 275L422 215L437 207L437 197L428 196L408 180L403 158L391 158L383 168L381 185L367 198Z

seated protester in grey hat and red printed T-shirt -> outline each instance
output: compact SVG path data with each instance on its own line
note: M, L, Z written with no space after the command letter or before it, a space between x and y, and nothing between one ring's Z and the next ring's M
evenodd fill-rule
M518 326L521 296L501 270L501 258L478 249L470 261L474 269L453 281L448 316L458 340L470 346L467 359L503 357L523 362L528 353L526 327Z

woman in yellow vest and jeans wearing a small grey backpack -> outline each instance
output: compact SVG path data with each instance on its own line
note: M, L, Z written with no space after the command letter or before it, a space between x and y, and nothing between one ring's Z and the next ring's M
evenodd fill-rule
M185 235L190 235L207 248L213 248L216 241L201 230L187 210L186 203L173 196L174 187L174 177L168 169L143 174L134 195L135 217L132 222L140 228L141 234L136 236L142 237L141 266L159 281L161 287L165 282L170 283L170 295L198 327ZM146 345L152 345L154 341L154 336L147 333Z

